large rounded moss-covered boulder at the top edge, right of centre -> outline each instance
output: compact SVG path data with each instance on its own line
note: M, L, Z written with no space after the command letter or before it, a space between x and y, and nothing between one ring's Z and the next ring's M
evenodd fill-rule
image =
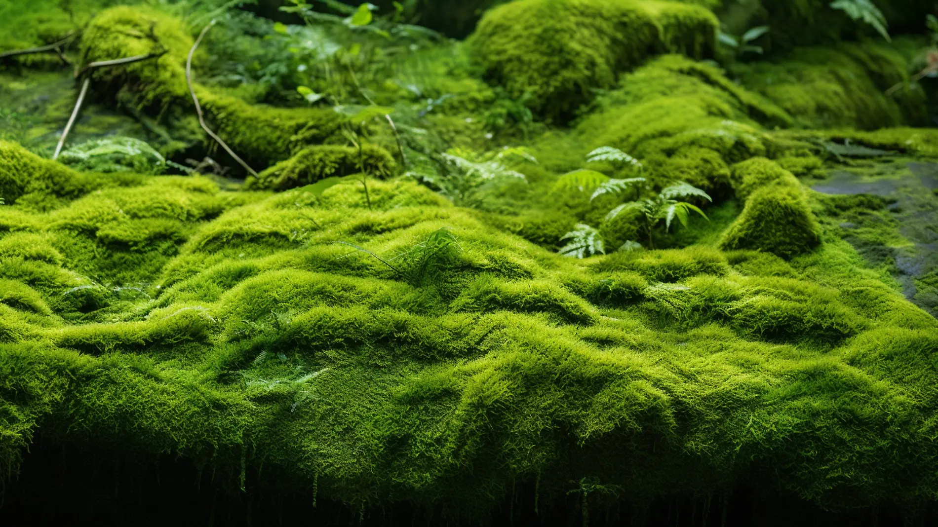
M707 9L676 2L518 0L488 11L470 46L492 83L562 119L650 53L710 53L717 25Z

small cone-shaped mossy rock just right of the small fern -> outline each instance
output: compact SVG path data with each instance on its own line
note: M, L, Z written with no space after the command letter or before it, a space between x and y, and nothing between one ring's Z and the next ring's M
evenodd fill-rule
M811 212L804 190L769 185L749 195L742 214L723 234L726 249L764 250L790 258L821 243L821 227Z

